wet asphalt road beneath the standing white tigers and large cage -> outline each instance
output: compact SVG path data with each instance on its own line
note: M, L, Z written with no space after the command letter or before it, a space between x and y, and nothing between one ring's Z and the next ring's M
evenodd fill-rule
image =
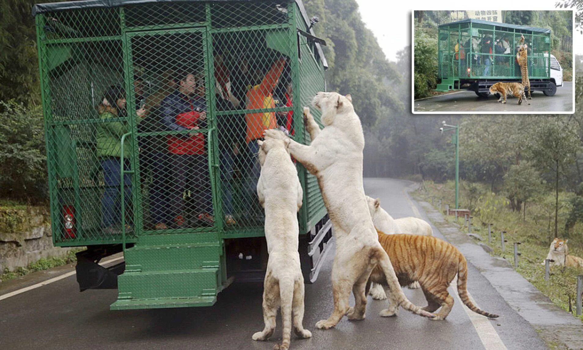
M408 185L409 182L392 179L366 179L365 190L370 196L380 197L389 213L403 217L414 215L405 193ZM435 230L436 236L442 238ZM430 321L404 310L398 317L380 317L378 312L384 309L385 301L369 297L366 320L344 318L336 328L317 330L314 324L332 311L332 257L332 253L328 255L318 281L305 288L304 327L313 336L298 340L292 335L292 349L485 348L465 306L456 298L447 320ZM488 322L506 348L546 348L535 330L471 264L468 289L481 309L501 315ZM117 297L115 290L78 290L72 276L0 300L0 349L268 350L281 338L278 316L278 328L271 340L251 340L251 335L263 327L261 284L235 283L219 294L212 307L127 311L109 310ZM0 295L5 292L6 286L0 285ZM426 305L422 291L405 289L405 294L413 303ZM484 342L489 342L487 337Z

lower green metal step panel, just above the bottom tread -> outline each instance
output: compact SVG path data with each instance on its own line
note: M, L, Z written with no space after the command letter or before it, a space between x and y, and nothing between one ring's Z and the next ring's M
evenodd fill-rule
M217 294L218 268L125 272L118 277L118 300L195 298Z

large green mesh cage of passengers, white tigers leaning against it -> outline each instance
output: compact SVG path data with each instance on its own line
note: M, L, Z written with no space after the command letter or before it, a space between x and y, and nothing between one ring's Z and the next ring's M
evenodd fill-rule
M36 23L55 244L263 235L256 140L309 142L295 116L325 90L296 2L120 2ZM305 233L326 211L298 171Z

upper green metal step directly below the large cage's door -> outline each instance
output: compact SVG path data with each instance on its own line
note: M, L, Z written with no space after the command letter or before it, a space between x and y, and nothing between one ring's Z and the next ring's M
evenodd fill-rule
M125 251L126 271L218 268L223 247L218 242L135 246Z

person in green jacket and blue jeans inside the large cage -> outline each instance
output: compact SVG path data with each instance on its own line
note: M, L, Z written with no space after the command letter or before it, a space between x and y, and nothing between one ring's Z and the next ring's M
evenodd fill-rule
M125 91L121 86L110 86L104 93L103 99L97 108L102 121L113 118L127 117L125 109ZM145 109L136 111L138 121L146 115ZM103 169L103 178L106 189L101 198L103 212L103 227L106 232L117 232L121 222L121 136L128 132L129 125L125 121L111 121L97 123L97 157ZM124 142L124 169L130 168L130 143ZM132 182L131 175L124 175L125 211L131 213ZM126 229L131 229L126 225Z

